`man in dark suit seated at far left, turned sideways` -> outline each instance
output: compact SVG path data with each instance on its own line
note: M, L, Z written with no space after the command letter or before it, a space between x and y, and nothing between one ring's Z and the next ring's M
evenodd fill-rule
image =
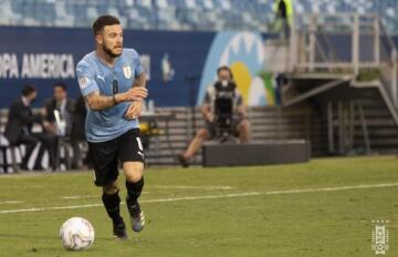
M27 147L25 154L22 158L21 168L29 169L28 164L35 146L41 143L41 147L35 160L33 169L43 169L41 161L45 148L49 148L51 142L44 133L32 133L33 123L46 126L48 123L43 121L42 115L33 114L31 103L34 102L38 92L33 85L27 84L22 90L22 96L14 101L9 110L8 122L6 125L4 135L10 145L24 144Z

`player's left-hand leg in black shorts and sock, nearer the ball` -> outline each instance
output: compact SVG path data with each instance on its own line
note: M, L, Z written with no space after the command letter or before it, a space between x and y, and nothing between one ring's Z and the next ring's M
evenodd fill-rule
M116 141L88 143L90 158L95 172L95 185L103 188L102 201L113 223L113 234L127 238L126 225L121 216L121 197L117 185L118 162Z

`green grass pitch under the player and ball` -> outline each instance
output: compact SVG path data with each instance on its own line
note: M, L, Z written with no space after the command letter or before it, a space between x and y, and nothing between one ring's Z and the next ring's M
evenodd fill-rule
M0 176L0 256L366 257L375 256L376 219L389 220L386 256L398 256L395 156L148 168L145 177L147 226L140 234L128 229L129 239L119 241L91 172ZM61 246L60 226L72 216L95 228L88 250Z

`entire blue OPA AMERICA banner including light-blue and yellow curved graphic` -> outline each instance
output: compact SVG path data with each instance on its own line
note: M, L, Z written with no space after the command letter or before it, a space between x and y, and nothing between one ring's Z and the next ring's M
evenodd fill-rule
M52 96L57 81L80 95L75 64L94 50L90 29L0 27L0 107L8 107L25 83L38 89L34 106ZM124 31L125 48L142 55L149 100L156 106L200 105L220 65L230 65L244 102L273 105L274 83L264 68L264 35L254 32Z

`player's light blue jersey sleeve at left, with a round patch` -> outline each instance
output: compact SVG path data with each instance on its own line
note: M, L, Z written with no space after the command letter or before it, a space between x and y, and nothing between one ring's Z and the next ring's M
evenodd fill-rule
M95 91L100 91L95 81L95 72L88 66L88 64L78 63L76 66L76 75L78 88L83 96L86 96Z

